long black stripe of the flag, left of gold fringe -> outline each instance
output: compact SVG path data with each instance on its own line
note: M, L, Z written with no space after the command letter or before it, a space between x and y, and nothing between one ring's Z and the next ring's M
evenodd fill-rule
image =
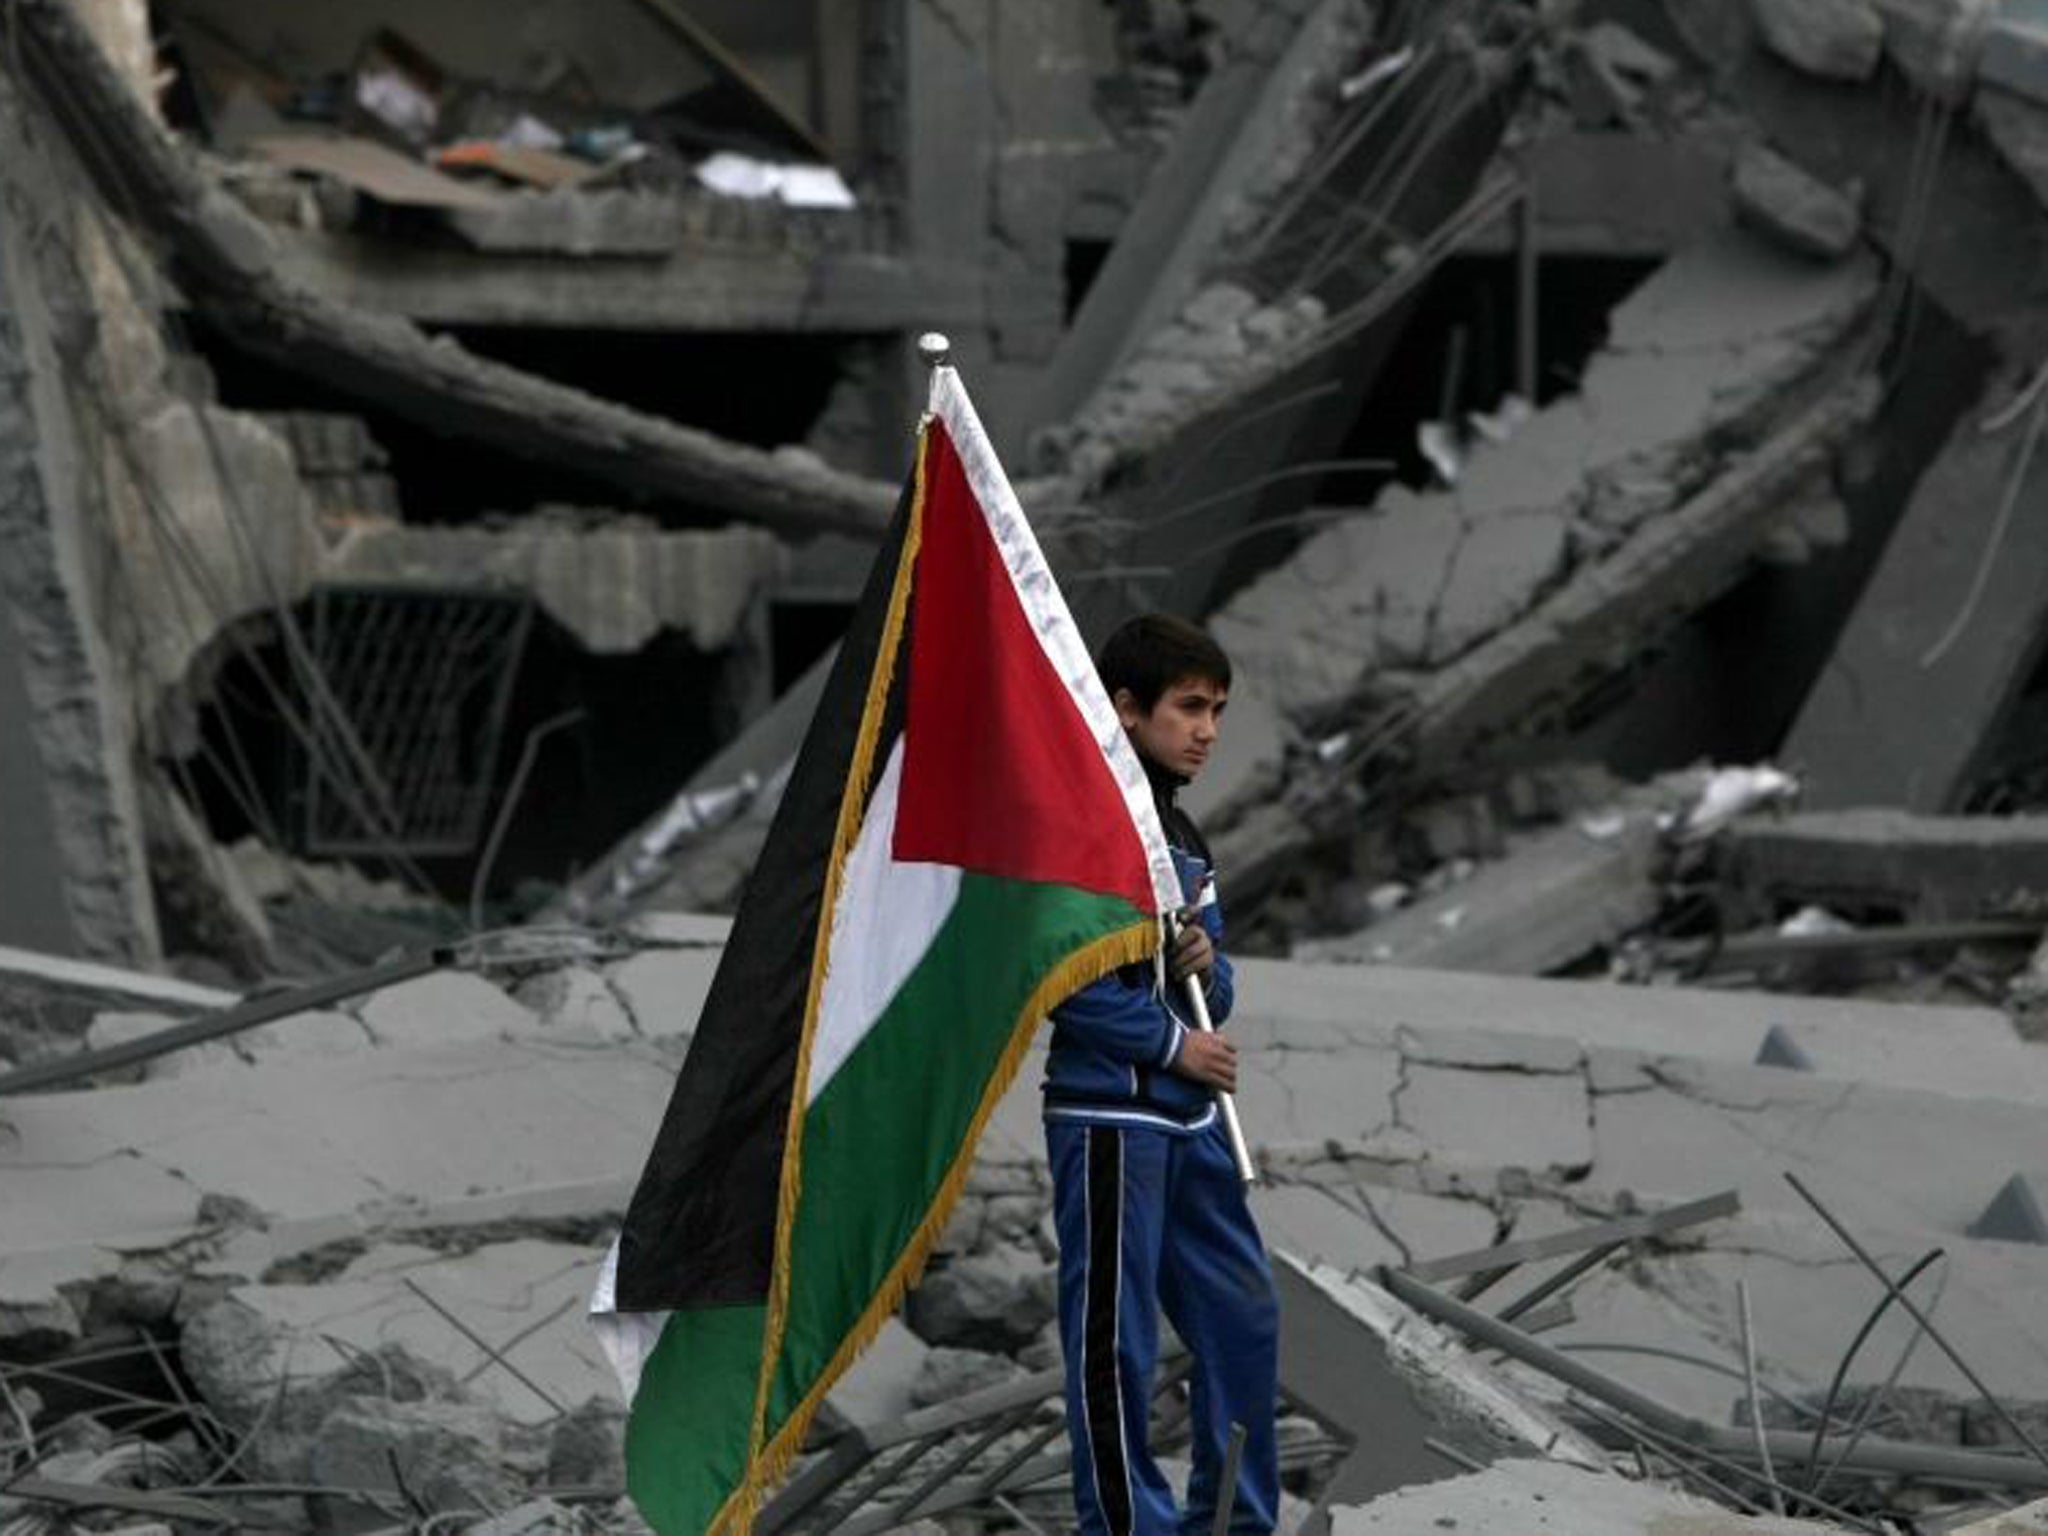
M621 1311L727 1307L768 1294L819 909L913 487L915 477L874 555L627 1208ZM901 692L895 668L870 780L901 731ZM864 784L862 795L872 788Z

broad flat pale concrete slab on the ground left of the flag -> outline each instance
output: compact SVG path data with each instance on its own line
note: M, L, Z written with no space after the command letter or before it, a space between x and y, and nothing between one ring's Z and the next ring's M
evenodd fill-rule
M94 1282L223 1217L246 1272L408 1223L623 1208L674 1077L657 1042L518 1038L258 1063L0 1110L0 1292Z

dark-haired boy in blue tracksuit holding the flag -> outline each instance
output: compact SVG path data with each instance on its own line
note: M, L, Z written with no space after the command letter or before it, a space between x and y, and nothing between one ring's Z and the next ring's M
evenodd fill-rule
M1190 1018L1186 977L1202 977L1219 1028L1233 985L1208 846L1174 803L1217 743L1231 662L1194 625L1147 614L1110 635L1096 670L1151 778L1196 922L1163 967L1124 967L1053 1010L1044 1139L1073 1497L1083 1536L1206 1536L1241 1423L1231 1530L1264 1536L1280 1503L1278 1307L1214 1100L1237 1087L1237 1049ZM1147 1444L1161 1307L1194 1352L1194 1475L1178 1518Z

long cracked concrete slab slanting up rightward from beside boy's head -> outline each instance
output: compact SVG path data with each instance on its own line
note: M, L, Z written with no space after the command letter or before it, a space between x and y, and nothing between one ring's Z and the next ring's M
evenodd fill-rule
M1868 262L1817 268L1739 233L1702 242L1614 311L1581 395L1507 442L1475 444L1456 487L1395 485L1311 537L1212 631L1247 684L1311 733L1386 668L1454 662L1708 481L1726 457L1710 444L1757 434L1849 334L1874 281Z

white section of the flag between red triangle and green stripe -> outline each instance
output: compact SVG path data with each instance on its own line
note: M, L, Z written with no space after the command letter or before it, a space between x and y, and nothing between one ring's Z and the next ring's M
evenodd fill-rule
M899 864L891 854L901 782L899 735L840 877L805 1104L817 1104L831 1075L868 1036L961 897L961 870L952 864Z

